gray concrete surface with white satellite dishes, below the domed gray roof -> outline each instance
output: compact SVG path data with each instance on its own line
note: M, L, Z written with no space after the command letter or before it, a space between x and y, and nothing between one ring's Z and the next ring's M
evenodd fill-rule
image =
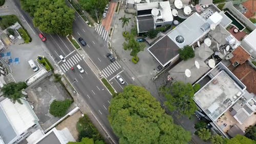
M210 67L205 64L204 61L212 54L214 54L214 51L205 45L201 45L199 48L195 49L194 58L190 58L186 61L182 60L168 72L170 76L177 81L194 84L200 77L202 77L202 75L210 70ZM195 66L195 60L197 60L200 65L199 69ZM189 69L191 71L190 77L186 77L184 73L181 73L184 72L185 69Z

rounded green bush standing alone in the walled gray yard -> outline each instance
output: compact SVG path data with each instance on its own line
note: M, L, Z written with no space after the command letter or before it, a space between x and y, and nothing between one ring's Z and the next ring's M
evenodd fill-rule
M55 117L62 117L66 114L72 103L73 101L71 99L65 99L63 101L58 101L55 99L50 105L50 114Z

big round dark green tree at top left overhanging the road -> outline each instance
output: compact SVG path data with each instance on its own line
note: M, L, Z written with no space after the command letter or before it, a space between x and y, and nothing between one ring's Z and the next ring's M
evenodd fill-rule
M39 0L33 24L46 33L72 34L75 11L63 0Z

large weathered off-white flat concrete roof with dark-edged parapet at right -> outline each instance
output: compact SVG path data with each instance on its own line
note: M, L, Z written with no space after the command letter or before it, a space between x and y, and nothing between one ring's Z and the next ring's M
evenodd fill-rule
M208 78L205 85L200 80ZM198 106L212 119L217 120L242 95L245 86L222 63L199 80L201 89L195 94Z

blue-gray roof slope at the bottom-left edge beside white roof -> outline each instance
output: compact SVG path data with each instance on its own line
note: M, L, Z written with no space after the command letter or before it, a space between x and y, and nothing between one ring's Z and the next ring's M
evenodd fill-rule
M16 133L12 128L9 120L7 119L4 110L0 107L0 135L3 138L5 143L9 143L14 137L16 137Z

